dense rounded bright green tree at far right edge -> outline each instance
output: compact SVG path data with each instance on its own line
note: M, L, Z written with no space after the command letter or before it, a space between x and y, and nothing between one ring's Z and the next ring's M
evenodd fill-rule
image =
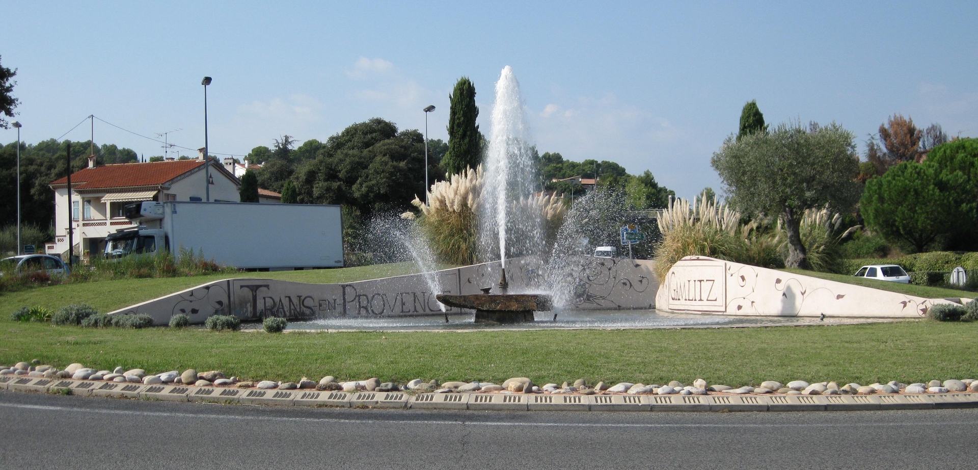
M922 252L952 235L969 215L974 220L975 200L969 200L966 186L960 171L905 162L867 181L860 207L868 226Z

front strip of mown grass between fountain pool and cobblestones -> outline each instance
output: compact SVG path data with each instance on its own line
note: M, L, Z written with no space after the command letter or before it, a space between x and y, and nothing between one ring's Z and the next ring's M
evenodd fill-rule
M573 381L727 385L764 380L978 378L978 323L930 320L840 326L683 330L289 333L85 329L0 320L0 364L40 359L65 367L151 372L220 369L246 379L301 376L405 383Z

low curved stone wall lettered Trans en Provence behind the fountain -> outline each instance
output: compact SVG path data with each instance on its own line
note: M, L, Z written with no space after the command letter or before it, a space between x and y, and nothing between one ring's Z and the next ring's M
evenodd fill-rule
M651 261L579 258L577 275L562 279L568 286L564 308L652 308L658 286ZM508 260L510 293L539 293L546 285L545 268L532 258ZM343 284L307 284L275 279L235 278L131 305L111 314L146 313L155 324L183 313L191 323L212 315L233 314L243 320L268 316L289 319L441 315L437 294L479 294L496 285L500 263L488 262L426 274L372 279ZM446 307L449 313L459 310Z

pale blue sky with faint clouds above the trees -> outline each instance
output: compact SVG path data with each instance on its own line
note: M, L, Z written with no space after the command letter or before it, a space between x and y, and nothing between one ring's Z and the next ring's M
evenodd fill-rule
M423 131L427 105L447 139L461 76L488 135L511 66L540 153L647 169L685 198L721 191L710 158L750 100L768 123L836 121L861 150L894 114L978 136L978 2L676 3L9 1L0 65L23 141L94 115L97 144L147 158L161 144L126 130L203 147L204 75L209 149L244 156L369 118Z

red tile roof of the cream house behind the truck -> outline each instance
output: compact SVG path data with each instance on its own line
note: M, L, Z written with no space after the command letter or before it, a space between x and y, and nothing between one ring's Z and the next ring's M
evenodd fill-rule
M129 186L158 186L200 165L200 160L176 160L146 164L104 164L82 168L71 173L75 189L124 188ZM67 177L51 182L67 184Z

